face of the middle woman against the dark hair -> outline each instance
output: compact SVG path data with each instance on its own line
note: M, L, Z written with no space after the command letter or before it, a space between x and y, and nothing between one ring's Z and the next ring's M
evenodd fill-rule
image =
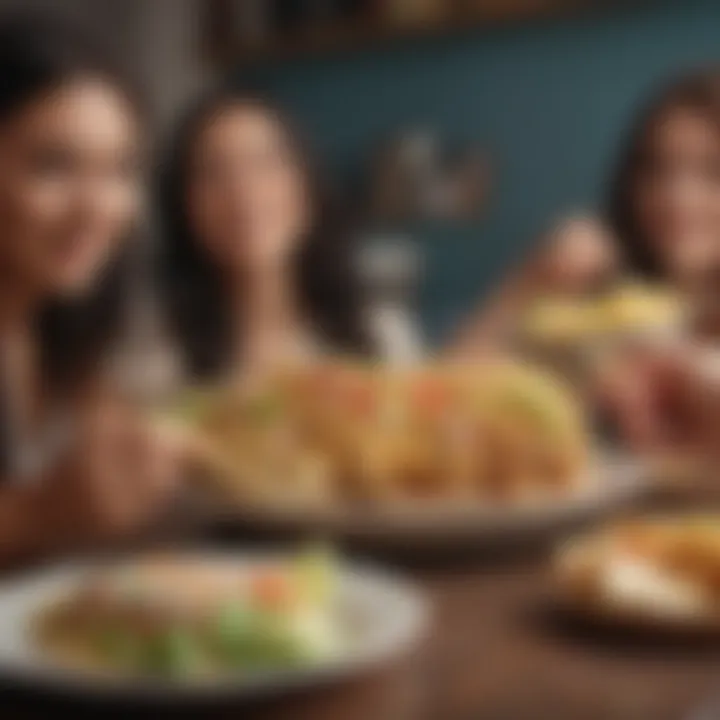
M305 176L267 110L219 112L193 149L188 210L195 237L234 272L282 265L309 225Z

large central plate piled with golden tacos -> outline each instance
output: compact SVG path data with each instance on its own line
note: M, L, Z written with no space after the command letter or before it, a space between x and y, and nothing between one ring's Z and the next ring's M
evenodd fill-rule
M178 413L215 518L413 544L549 529L644 489L581 404L522 363L314 365ZM600 460L598 458L601 457Z

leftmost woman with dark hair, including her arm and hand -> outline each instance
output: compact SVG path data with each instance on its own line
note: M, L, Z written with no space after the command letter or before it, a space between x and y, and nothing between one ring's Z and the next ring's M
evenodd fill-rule
M74 28L0 21L0 562L136 529L173 451L106 397L141 117Z

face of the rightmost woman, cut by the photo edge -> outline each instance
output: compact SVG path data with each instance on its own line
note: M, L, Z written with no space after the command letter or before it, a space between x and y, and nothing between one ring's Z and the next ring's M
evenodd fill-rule
M655 124L635 198L641 234L671 277L720 269L720 133L711 120L677 108Z

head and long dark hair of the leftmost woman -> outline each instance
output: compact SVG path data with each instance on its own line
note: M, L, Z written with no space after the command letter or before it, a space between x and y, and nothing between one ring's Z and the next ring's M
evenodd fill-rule
M0 27L0 307L6 331L22 317L38 326L53 392L70 391L112 331L138 191L129 95L64 32L30 19Z

